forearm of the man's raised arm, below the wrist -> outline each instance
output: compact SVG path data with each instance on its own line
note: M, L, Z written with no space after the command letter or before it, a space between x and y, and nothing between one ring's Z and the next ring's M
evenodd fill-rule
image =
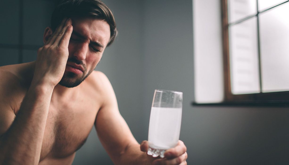
M38 164L53 87L30 86L11 127L1 136L0 164Z

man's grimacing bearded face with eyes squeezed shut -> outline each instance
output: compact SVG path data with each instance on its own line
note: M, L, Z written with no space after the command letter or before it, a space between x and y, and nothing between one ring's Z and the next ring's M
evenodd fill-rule
M101 60L110 39L107 22L93 18L72 19L73 32L68 45L69 56L60 85L78 86Z

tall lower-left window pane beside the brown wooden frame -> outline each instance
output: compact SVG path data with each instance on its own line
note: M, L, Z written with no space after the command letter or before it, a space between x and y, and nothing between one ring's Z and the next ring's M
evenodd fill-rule
M232 93L259 93L257 17L229 27L229 43Z

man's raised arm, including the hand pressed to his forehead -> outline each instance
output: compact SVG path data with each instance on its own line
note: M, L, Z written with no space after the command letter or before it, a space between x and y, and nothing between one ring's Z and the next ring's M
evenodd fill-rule
M32 83L16 117L9 104L2 101L12 90L4 88L9 87L9 82L2 80L0 83L0 164L39 163L51 95L63 76L68 58L72 27L71 21L65 21L38 50ZM1 73L9 74L8 71Z

